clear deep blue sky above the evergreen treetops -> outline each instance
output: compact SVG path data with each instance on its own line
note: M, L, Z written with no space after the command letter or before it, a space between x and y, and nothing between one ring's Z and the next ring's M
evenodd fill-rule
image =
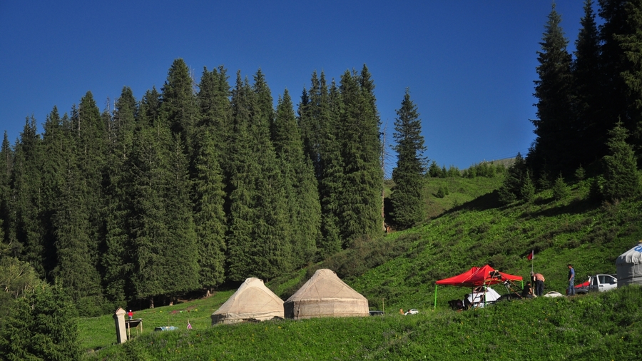
M556 1L569 51L582 2ZM0 131L14 143L32 114L42 131L54 106L69 112L86 91L101 111L123 86L140 100L177 58L196 81L203 66L225 66L231 83L261 68L272 96L287 88L295 104L312 71L338 81L365 63L389 141L408 87L440 166L527 153L550 1L310 3L0 0Z

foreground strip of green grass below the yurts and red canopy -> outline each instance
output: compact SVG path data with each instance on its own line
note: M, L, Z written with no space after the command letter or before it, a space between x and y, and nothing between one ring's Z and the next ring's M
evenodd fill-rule
M466 312L148 333L88 360L638 360L642 288Z

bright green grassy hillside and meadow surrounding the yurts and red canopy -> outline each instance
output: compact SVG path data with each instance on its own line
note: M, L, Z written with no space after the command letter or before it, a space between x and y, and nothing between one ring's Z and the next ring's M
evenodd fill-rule
M447 184L449 194L434 197ZM637 360L642 341L642 288L574 298L503 302L454 312L447 301L470 290L434 281L489 264L502 272L531 271L546 289L564 294L567 263L576 282L592 273L615 273L615 259L642 239L642 201L608 204L590 199L588 182L554 200L550 190L531 203L502 206L496 178L430 179L432 218L424 224L358 239L306 269L267 280L283 300L315 270L335 270L365 295L382 317L281 320L210 326L210 314L235 290L169 307L141 310L143 333L114 345L111 315L83 318L80 337L88 360ZM526 255L534 250L533 262ZM500 294L503 286L494 287ZM399 315L417 308L418 315ZM188 320L192 330L187 330ZM173 325L178 330L153 332Z

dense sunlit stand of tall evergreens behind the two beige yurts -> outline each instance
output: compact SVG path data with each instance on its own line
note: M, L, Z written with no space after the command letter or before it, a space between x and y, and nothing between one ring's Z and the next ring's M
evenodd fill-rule
M404 102L414 107L408 92ZM27 118L0 148L0 258L31 265L98 315L269 280L379 235L382 139L368 68L339 83L315 71L296 113L287 89L276 103L261 70L251 82L238 71L230 86L223 66L204 68L197 84L177 59L140 100L125 86L100 111L87 92L68 113L54 106L42 133Z

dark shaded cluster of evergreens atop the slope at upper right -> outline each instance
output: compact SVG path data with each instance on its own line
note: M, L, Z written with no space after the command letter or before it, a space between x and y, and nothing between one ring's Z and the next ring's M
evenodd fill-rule
M500 190L505 203L585 176L593 177L592 194L603 200L640 193L642 1L599 0L597 14L594 7L584 1L571 54L553 4L534 81L536 138L506 174Z

